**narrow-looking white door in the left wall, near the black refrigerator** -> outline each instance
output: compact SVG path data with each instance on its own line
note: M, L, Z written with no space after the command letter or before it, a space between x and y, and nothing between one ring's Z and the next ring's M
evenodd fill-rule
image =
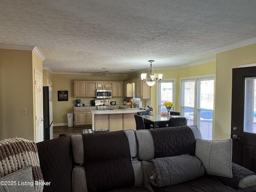
M36 142L44 141L43 119L43 77L42 73L35 70L35 113L36 113Z

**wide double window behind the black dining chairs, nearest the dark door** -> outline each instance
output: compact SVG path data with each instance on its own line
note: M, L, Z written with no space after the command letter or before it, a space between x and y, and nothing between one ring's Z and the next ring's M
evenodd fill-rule
M181 80L182 116L198 125L202 138L212 140L214 77Z

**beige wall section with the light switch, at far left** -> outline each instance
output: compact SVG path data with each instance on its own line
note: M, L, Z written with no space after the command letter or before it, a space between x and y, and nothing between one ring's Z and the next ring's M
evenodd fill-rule
M34 140L33 102L32 51L0 49L0 140Z

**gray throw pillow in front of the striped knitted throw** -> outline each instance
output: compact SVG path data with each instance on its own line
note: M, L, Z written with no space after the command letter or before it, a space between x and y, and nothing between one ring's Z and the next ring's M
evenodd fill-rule
M1 192L35 192L32 165L0 178Z

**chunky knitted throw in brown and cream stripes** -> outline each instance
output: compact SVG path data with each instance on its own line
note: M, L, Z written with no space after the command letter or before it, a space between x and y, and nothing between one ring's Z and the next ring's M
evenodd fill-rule
M34 181L44 182L34 141L23 138L0 141L0 178L28 165L32 165ZM44 185L39 183L34 187L36 192L42 192Z

